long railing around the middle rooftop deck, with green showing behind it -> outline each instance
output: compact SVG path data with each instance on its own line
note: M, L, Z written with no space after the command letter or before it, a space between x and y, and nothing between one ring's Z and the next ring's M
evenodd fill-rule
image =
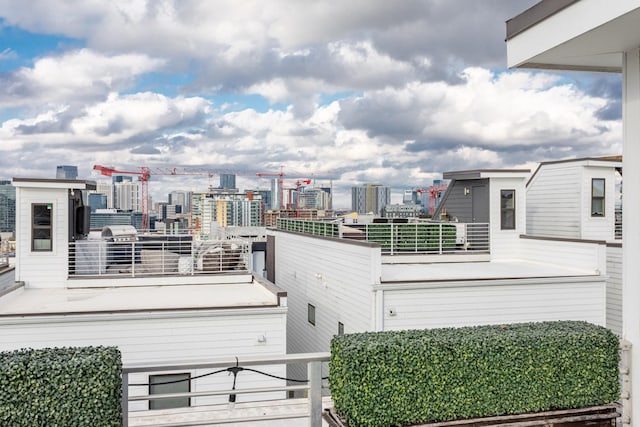
M279 219L277 227L316 236L366 240L380 244L385 255L487 253L489 224L457 222L338 224Z

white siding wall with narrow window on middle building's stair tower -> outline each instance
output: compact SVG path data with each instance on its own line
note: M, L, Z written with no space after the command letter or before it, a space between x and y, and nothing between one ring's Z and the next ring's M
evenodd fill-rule
M500 227L500 190L516 191L516 229ZM526 191L523 178L492 178L489 184L491 259L518 257L520 235L526 229Z

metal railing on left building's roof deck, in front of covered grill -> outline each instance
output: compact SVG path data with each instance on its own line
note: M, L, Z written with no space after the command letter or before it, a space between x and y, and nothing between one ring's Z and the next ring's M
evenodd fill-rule
M142 277L251 271L242 240L77 240L69 243L69 277Z

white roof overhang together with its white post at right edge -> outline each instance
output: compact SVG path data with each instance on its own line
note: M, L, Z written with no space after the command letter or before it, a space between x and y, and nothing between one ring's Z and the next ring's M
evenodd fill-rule
M640 1L544 0L507 21L512 68L622 72L625 198L622 219L622 336L640 345ZM640 366L632 352L631 366ZM632 369L623 399L625 424L640 425L640 369Z

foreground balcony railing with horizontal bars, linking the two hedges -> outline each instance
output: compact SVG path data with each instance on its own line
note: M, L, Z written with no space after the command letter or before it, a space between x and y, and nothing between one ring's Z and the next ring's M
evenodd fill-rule
M190 362L185 361L181 363L157 363L157 364L125 364L122 370L122 426L142 426L142 425L162 425L163 427L177 427L185 425L218 425L225 423L247 423L254 422L263 423L262 425L269 425L274 420L284 419L299 419L307 418L309 423L307 425L311 427L320 427L322 425L322 396L323 396L323 371L326 372L326 365L329 362L329 353L304 353L304 354L288 354L282 356L266 357L245 357L245 358L233 358L224 359L218 361L205 361L205 362ZM205 376L211 374L220 374L229 376L231 374L237 375L238 372L246 370L250 371L254 375L260 373L260 369L265 369L268 366L274 365L306 365L307 367L307 379L298 380L296 385L287 385L287 378L275 377L268 375L268 384L264 387L236 387L235 381L229 379L228 383L232 384L232 388L211 387L209 384L196 385L198 381L206 381ZM323 369L323 366L325 367ZM249 368L253 367L253 368ZM148 375L153 373L154 375L170 372L189 372L194 371L197 375L192 378L186 379L190 381L189 390L184 393L165 393L165 394L151 394L149 384L134 384L132 378L149 378ZM235 371L235 373L234 373ZM203 374L202 372L206 372ZM291 382L291 381L289 381ZM240 384L241 381L238 381ZM306 396L300 399L280 399L280 400L264 400L265 393L276 393L277 395L285 396L288 392L303 392ZM189 402L196 402L197 398L208 397L220 397L224 396L225 399L229 397L229 402L235 402L237 395L245 396L263 396L262 399L243 399L243 405L245 407L251 407L252 405L270 405L273 406L273 411L270 414L261 413L257 418L255 417L255 411L243 412L238 408L235 408L233 417L226 417L226 419L220 418L220 406L218 405L202 405L202 406L189 406L187 408L180 409L163 409L159 411L154 410L138 410L133 411L130 408L132 405L139 403L149 402L151 400L163 400L163 399L189 399ZM233 398L232 398L233 396ZM285 405L290 401L302 401L304 404L299 405L296 410L291 410L290 405ZM156 415L157 414L157 415ZM265 424L266 423L266 424Z

